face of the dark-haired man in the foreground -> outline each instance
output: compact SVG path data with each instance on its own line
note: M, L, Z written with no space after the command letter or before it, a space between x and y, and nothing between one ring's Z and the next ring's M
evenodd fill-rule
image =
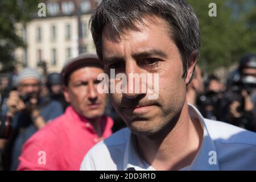
M151 20L150 20L151 19ZM178 48L170 38L166 22L158 17L146 18L146 26L137 24L139 31L126 30L117 40L108 25L102 35L102 56L105 72L159 74L158 99L148 100L148 93L112 93L110 100L117 113L133 133L154 135L173 125L186 98L183 64ZM194 66L194 65L193 65ZM110 77L110 76L109 76ZM117 81L119 82L119 81ZM127 84L133 90L134 85ZM173 121L173 122L172 122Z

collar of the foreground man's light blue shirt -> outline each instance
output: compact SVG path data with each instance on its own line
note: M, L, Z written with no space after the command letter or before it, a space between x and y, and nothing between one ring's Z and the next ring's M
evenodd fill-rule
M218 158L216 153L216 148L212 138L210 138L207 125L205 124L205 119L196 109L195 106L188 105L189 115L191 118L196 118L200 121L201 126L204 129L204 137L201 143L199 152L197 153L195 159L193 160L191 166L188 167L188 170L209 170L216 171L219 170ZM216 155L216 163L212 164L211 157ZM214 156L213 156L214 157ZM127 140L125 155L123 159L123 169L125 171L143 171L151 170L154 171L155 168L150 166L146 161L144 161L141 156L139 156L136 147L134 145L134 134L130 132L130 137Z

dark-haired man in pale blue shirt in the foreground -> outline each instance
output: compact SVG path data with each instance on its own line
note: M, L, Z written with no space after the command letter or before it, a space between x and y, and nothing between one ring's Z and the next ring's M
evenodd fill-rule
M255 133L204 119L187 104L200 52L191 6L181 0L103 1L90 23L110 81L112 69L128 78L124 92L110 92L110 100L129 129L94 146L81 170L256 170ZM136 90L130 73L156 74L158 97L130 92Z

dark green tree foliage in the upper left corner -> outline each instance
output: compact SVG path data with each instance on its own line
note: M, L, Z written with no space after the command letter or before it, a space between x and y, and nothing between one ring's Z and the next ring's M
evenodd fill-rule
M38 9L38 0L0 0L0 63L2 72L15 65L14 50L25 47L22 38L16 35L15 24L26 24Z

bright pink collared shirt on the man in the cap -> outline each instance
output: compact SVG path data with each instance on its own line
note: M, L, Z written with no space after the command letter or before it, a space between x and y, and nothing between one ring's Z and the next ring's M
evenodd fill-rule
M112 134L113 120L102 117L102 126L105 139ZM27 140L18 170L79 170L85 154L99 141L89 120L69 106Z

